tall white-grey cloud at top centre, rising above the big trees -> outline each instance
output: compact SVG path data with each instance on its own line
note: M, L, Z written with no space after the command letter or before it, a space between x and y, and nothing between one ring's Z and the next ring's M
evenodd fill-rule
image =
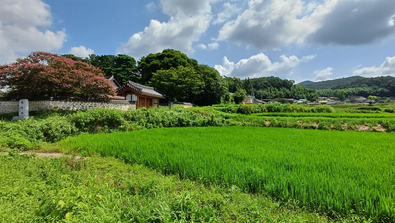
M137 32L121 44L117 53L135 58L171 48L193 53L193 43L209 27L212 19L211 1L161 1L162 11L169 15L167 22L152 19L144 31Z

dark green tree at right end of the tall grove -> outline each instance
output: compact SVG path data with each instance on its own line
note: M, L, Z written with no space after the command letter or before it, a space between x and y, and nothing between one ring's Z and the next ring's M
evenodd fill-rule
M229 96L228 89L225 83L215 68L209 67L208 65L199 64L196 67L196 73L199 74L202 81L204 82L203 91L199 94L196 104L198 105L213 105L220 104L222 98ZM230 98L226 98L229 101Z

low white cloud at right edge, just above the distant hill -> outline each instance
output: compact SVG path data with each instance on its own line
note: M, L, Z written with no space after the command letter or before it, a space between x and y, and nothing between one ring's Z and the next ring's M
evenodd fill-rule
M384 63L382 63L379 67L371 66L354 70L353 75L359 75L363 77L395 77L395 57L386 57L386 61L384 61Z

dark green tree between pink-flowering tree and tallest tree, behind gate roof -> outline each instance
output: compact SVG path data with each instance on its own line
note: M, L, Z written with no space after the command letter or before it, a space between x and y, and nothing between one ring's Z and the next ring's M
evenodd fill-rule
M139 76L136 73L136 60L128 55L118 54L114 59L113 67L109 69L120 84L124 84L129 80L134 82L139 80Z

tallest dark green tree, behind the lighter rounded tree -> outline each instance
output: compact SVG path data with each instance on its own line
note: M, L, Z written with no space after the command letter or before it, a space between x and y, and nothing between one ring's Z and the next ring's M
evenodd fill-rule
M150 53L146 57L141 57L137 62L137 69L141 76L140 83L147 84L158 70L169 70L179 66L195 68L198 66L198 61L174 49L165 49L162 53Z

